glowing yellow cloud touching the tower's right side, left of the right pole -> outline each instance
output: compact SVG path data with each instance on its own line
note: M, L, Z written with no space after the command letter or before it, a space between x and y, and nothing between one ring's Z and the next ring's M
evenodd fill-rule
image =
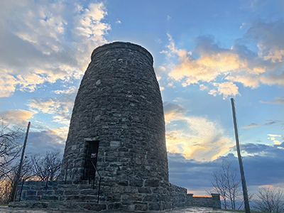
M165 138L170 153L182 153L187 159L214 160L229 151L231 138L226 136L222 126L202 116L186 116L186 112L180 104L164 103ZM181 129L177 129L177 123Z

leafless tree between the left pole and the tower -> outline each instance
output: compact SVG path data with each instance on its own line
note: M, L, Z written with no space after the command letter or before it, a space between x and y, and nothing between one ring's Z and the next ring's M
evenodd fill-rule
M31 155L33 173L38 180L58 180L61 168L60 151L47 151L45 156Z

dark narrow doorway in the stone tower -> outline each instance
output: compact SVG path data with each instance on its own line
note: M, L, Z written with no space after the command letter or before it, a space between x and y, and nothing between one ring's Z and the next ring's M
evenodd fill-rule
M86 141L86 158L84 161L84 180L94 180L99 153L99 141ZM94 164L94 165L93 165Z

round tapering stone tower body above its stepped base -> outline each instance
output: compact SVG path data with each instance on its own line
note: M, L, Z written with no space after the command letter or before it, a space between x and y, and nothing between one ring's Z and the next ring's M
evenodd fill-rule
M153 57L114 42L92 53L75 99L62 179L168 182L165 121ZM67 172L67 175L66 175Z

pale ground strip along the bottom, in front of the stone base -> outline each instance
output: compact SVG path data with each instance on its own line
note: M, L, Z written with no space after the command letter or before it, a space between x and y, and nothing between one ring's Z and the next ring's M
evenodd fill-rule
M6 206L0 206L0 213L65 213L65 212L74 212L82 213L82 211L71 211L71 210L53 210L53 209L25 209L25 208L9 208ZM86 211L89 212L89 211ZM122 213L121 211L111 210L111 211L101 211L102 213ZM187 209L175 209L175 210L166 210L165 213L186 213L186 212L195 212L195 213L208 213L208 212L222 212L230 213L228 211L223 211L222 209L212 209L207 207L189 207ZM130 212L128 212L130 213ZM144 212L147 213L147 212ZM151 212L153 213L153 212Z

